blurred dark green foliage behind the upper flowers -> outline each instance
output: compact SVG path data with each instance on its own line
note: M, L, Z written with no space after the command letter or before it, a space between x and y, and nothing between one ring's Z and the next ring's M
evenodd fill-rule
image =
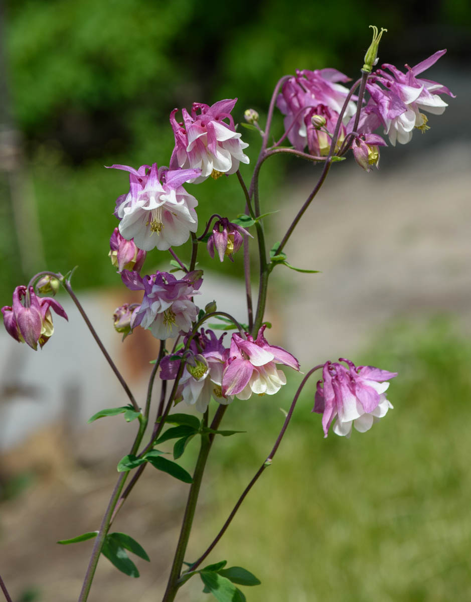
M389 29L381 46L384 59L413 64L447 44L455 45L455 57L460 52L466 57L469 45L461 42L469 12L469 4L460 0L375 5L374 10L367 0L301 0L296 10L283 0L235 5L8 0L3 78L8 95L0 98L0 107L25 137L47 263L37 270L66 271L78 264L78 285L116 282L108 264L108 237L116 225L114 199L127 184L125 175L102 166L167 164L173 147L168 116L174 107L237 96L236 122L252 106L263 123L273 85L285 73L335 66L354 76L372 22ZM257 136L244 131L243 137L255 158ZM264 165L263 202L280 184L282 164ZM235 178L189 188L200 200L201 223L214 210L229 217L243 211ZM12 240L15 226L4 176L0 193L0 293L8 302L14 285L31 274L22 273ZM236 273L242 273L237 261Z

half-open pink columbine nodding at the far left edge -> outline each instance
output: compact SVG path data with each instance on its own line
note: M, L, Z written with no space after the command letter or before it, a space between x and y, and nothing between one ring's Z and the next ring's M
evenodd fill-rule
M24 304L23 304L24 303ZM34 288L16 287L13 293L13 307L2 307L5 329L19 343L27 343L37 350L45 346L54 333L52 315L49 308L56 314L67 318L64 308L51 297L37 297Z

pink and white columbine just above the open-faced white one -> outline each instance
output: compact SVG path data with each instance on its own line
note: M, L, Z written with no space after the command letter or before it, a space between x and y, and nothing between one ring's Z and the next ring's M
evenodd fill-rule
M201 169L201 176L194 179L198 184L208 176L216 179L223 173L236 173L239 163L249 163L243 153L249 145L240 140L242 134L236 132L231 116L236 102L237 98L227 99L215 102L211 107L193 102L191 115L182 109L182 123L175 119L178 109L173 109L170 125L175 135L175 148L170 158L171 169Z

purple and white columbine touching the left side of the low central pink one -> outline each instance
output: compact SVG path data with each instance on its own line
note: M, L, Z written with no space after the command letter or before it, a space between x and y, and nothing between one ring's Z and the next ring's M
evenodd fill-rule
M207 336L209 335L209 337ZM232 401L222 395L221 382L224 363L229 355L222 340L212 330L201 329L190 343L191 355L187 356L185 367L176 391L175 402L183 400L188 405L195 405L198 412L205 412L211 397L218 403L226 405ZM182 356L182 350L176 355ZM180 362L166 356L161 361L160 377L163 380L175 379Z

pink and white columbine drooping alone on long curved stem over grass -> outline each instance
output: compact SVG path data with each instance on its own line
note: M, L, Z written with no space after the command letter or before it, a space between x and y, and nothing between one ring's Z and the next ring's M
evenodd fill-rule
M337 417L333 430L336 435L349 437L352 424L361 433L369 430L393 406L388 402L385 391L389 380L397 372L379 370L372 366L359 366L348 359L339 359L342 364L326 362L322 380L317 382L316 403L313 412L322 414L322 427L327 436L329 427Z

